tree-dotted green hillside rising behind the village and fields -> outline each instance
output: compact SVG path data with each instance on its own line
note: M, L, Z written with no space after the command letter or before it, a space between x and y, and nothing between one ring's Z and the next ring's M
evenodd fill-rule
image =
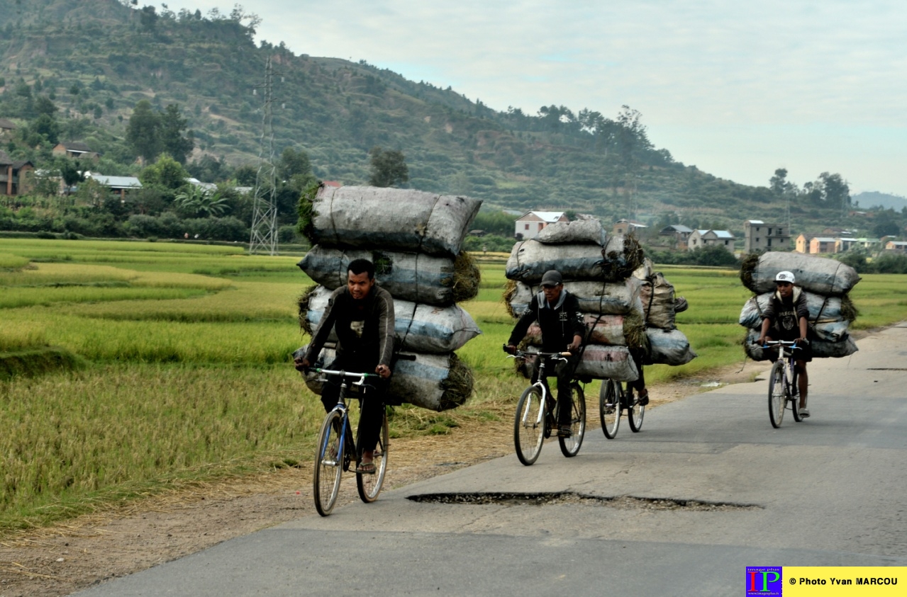
M190 172L233 176L258 163L270 57L276 153L305 150L318 178L365 183L368 151L378 146L405 154L409 187L495 207L742 230L746 218L782 220L790 204L795 228L847 223L824 179L805 193L713 177L653 147L632 108L574 113L552 97L536 114L494 111L365 61L256 44L257 25L240 6L201 14L130 0L0 0L0 119L19 125L21 141L10 140L6 153L40 165L56 141L80 140L102 152L104 174L134 173L138 152L126 127L146 100L186 119Z

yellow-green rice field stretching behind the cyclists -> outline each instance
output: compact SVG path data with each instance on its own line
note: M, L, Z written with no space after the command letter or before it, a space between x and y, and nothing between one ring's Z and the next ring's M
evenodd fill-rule
M297 260L231 246L0 239L0 534L307 461L324 412L290 365L307 342L296 302L310 280ZM398 408L395 435L494 419L525 385L501 351L513 323L503 264L481 266L479 296L463 306L483 335L459 351L476 375L473 399L444 413ZM699 356L647 368L647 379L743 361L736 320L749 293L736 272L659 269L688 299L678 327ZM864 276L854 327L907 319L905 291L907 276Z

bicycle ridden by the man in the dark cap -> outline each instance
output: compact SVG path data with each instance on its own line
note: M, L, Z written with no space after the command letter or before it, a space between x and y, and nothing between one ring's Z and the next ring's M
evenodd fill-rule
M504 346L506 350L506 345ZM523 390L516 406L516 417L513 419L513 445L516 457L525 466L532 465L541 453L541 443L551 437L551 429L558 420L558 403L551 396L551 388L545 377L545 365L549 359L567 361L565 357L571 352L525 352L516 351L512 359L529 357L541 359L537 380ZM571 417L571 437L558 437L561 453L565 457L574 457L580 452L582 438L586 434L586 395L579 382L571 381L573 394L573 412Z

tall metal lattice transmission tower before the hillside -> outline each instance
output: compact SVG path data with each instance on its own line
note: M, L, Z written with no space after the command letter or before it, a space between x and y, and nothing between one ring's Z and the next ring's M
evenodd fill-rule
M283 77L280 78L281 81ZM262 90L265 96L261 116L261 139L258 143L258 174L255 177L255 199L252 204L252 234L249 253L258 251L278 254L277 171L274 166L274 69L271 57L265 66L265 81L252 93ZM266 159L267 155L267 159Z

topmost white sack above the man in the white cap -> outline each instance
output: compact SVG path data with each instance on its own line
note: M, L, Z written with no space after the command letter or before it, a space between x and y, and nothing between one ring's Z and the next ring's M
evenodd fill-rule
M743 284L756 294L775 290L775 274L792 272L796 284L815 294L838 296L850 292L860 281L860 275L850 265L840 261L805 255L772 251L747 259L740 268Z

